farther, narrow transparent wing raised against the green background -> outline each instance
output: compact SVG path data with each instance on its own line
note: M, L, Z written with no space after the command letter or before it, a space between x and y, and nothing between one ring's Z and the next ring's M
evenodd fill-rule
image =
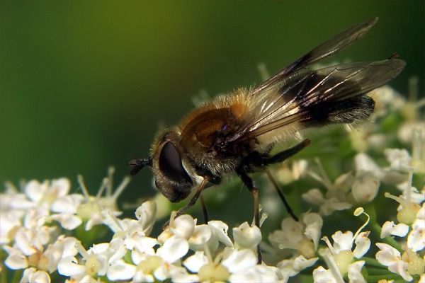
M259 93L265 88L273 87L275 83L280 81L283 77L288 76L288 74L335 54L365 35L365 33L367 33L368 30L375 25L376 21L378 21L378 18L373 18L369 21L365 21L364 23L359 23L358 25L354 25L351 28L344 30L338 35L335 35L330 40L323 42L321 45L318 45L313 50L300 57L300 59L297 59L297 61L290 64L288 67L278 72L278 74L261 83L261 85L254 90L254 93Z

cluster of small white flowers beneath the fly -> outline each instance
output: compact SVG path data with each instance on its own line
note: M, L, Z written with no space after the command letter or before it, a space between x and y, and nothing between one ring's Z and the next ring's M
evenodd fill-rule
M71 193L66 178L31 180L19 189L6 183L0 270L7 275L0 283L285 283L300 275L318 283L425 283L425 127L417 111L425 100L406 102L387 86L372 95L378 122L350 130L344 169L305 156L272 169L279 185L304 182L302 201L312 209L299 220L279 219L270 233L248 222L229 228L224 221L176 217L159 197L137 205L134 218L123 218L117 200L130 179L113 190L113 169L96 195L89 195L81 176L81 193ZM380 123L392 112L400 113L399 131L382 131ZM266 195L260 200L267 203ZM169 225L152 235L158 215L169 216ZM340 219L344 225L338 226ZM12 270L22 272L12 276Z

